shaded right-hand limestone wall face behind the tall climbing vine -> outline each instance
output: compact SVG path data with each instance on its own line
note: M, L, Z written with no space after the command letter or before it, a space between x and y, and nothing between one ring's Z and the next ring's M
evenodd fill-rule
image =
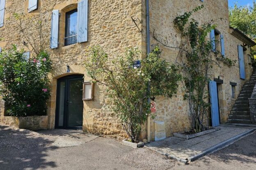
M231 97L230 82L237 83L236 98L240 93L242 85L247 81L251 75L252 68L247 60L247 54L250 53L247 46L245 52L245 69L246 80L240 79L239 63L238 63L238 45L243 45L243 42L232 36L229 28L229 9L228 0L158 0L150 1L150 33L151 33L151 47L159 45L162 49L162 58L165 58L171 63L176 63L178 51L161 45L153 38L153 33L159 38L167 38L168 45L176 47L175 35L178 33L174 29L173 20L178 15L182 15L186 11L192 11L195 7L204 5L201 11L192 15L192 18L199 22L199 25L214 21L217 29L224 35L225 40L225 53L226 57L236 60L233 67L227 67L221 64L220 67L214 65L210 71L210 78L220 78L224 80L224 84L219 86L219 105L220 105L220 118L221 123L226 123L230 110L234 104L235 99ZM146 0L143 2L142 16L146 16ZM143 37L146 39L146 17L142 19ZM210 35L209 35L210 38ZM146 43L142 44L143 55L146 55ZM173 132L188 130L190 128L190 115L188 112L188 103L183 100L182 85L179 87L177 97L169 98L156 98L157 116L155 120L151 121L151 139L154 139L154 121L165 121L165 131L167 136L172 136ZM143 135L142 135L143 136ZM146 136L146 132L144 132Z

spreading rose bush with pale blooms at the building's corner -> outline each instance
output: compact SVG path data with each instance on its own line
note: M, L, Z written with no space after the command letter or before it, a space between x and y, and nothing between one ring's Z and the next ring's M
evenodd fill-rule
M88 76L95 83L107 88L107 96L112 99L112 110L123 122L131 141L139 142L142 125L150 114L149 97L172 97L177 92L181 75L174 65L160 58L159 47L141 60L141 68L134 65L141 53L137 48L127 49L124 56L112 60L99 46L91 49L85 67ZM148 83L151 83L151 91ZM154 117L155 115L151 115Z

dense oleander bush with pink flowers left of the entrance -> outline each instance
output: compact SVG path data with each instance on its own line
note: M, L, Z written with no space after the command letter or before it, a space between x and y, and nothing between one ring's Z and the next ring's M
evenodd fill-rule
M0 53L0 95L10 116L46 115L52 69L49 54L40 51L26 59L23 52L12 45Z

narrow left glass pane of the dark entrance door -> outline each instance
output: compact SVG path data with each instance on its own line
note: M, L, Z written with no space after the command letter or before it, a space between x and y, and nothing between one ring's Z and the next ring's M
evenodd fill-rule
M64 120L65 82L59 85L59 126L63 126Z

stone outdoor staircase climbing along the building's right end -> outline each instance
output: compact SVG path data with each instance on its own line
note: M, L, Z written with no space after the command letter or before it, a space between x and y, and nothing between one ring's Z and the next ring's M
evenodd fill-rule
M256 71L252 74L250 81L243 86L238 100L235 101L233 110L231 110L228 123L251 124L249 98L251 97L255 84Z

